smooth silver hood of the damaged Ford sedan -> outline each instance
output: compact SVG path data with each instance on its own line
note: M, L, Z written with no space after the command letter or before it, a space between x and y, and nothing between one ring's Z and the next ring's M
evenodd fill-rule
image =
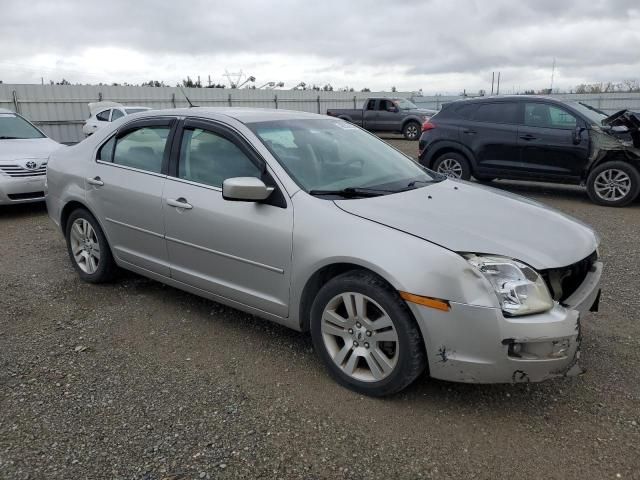
M593 230L578 220L523 197L467 182L445 180L407 192L335 203L345 212L449 250L503 255L538 270L573 264L597 247Z

